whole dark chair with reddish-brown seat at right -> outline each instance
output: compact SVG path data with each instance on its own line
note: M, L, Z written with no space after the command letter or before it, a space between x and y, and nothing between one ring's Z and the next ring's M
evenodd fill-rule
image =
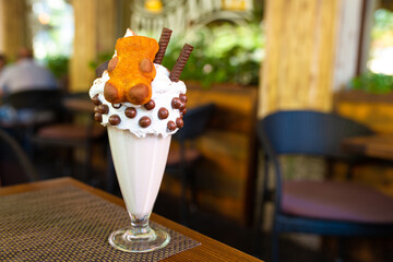
M265 154L262 204L275 203L272 261L278 261L278 234L392 236L393 199L369 187L337 181L284 181L282 155L314 155L327 159L356 159L341 151L345 138L372 131L349 119L317 111L278 111L258 122L258 138ZM275 193L267 186L270 164L275 175ZM378 176L378 174L376 174ZM257 217L261 225L263 206ZM343 239L343 238L340 238ZM341 255L341 254L338 254Z

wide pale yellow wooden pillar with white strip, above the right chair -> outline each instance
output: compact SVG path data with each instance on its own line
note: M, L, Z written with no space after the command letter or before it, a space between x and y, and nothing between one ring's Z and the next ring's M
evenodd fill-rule
M362 0L267 0L263 117L279 109L332 108L333 91L356 74Z

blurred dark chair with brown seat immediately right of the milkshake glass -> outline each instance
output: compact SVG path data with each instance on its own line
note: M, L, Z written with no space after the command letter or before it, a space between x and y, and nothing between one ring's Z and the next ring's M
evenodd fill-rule
M165 172L178 176L181 180L180 219L183 224L188 221L187 189L189 186L191 204L196 203L195 168L201 159L201 153L194 146L194 142L206 130L214 107L214 104L206 104L189 109L183 117L184 126L172 136L179 146L170 147Z

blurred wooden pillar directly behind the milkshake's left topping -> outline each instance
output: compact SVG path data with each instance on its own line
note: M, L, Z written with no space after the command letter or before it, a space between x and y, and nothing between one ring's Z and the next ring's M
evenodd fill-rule
M92 62L112 53L116 44L116 0L73 0L75 35L70 62L70 92L87 91L95 79Z

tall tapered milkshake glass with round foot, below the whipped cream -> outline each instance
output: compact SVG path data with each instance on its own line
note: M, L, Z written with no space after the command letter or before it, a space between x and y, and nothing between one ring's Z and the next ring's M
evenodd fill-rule
M146 252L165 247L170 236L151 227L148 218L163 179L170 135L136 138L128 130L108 127L110 151L131 225L114 231L109 242L117 249Z

